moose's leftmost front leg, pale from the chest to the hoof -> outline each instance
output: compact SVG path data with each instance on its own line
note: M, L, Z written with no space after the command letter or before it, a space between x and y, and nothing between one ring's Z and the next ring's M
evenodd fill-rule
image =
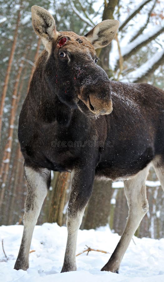
M23 235L14 269L27 270L29 268L29 251L32 233L47 195L50 184L50 170L39 167L24 166L27 180L27 197L23 218Z

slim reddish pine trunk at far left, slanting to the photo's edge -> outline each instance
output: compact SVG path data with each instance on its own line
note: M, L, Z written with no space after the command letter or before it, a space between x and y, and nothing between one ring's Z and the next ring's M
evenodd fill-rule
M6 97L7 88L8 88L8 82L9 82L9 78L10 78L12 61L13 61L14 52L15 52L16 43L17 43L17 33L18 33L18 27L19 27L20 18L21 18L21 9L22 9L22 0L20 1L20 8L18 10L17 24L16 24L15 33L14 33L14 39L13 39L13 43L12 43L12 48L11 48L11 52L10 52L10 57L9 57L9 61L8 61L8 66L7 66L7 71L6 71L6 76L5 76L5 81L4 81L3 91L2 91L2 97L1 97L1 105L0 105L0 143L1 143L1 132L2 132L3 108L4 108L5 97Z

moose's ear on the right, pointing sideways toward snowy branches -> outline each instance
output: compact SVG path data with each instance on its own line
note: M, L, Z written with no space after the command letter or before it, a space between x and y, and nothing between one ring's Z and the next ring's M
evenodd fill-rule
M107 46L115 38L119 21L105 20L97 24L84 36L92 43L95 49Z

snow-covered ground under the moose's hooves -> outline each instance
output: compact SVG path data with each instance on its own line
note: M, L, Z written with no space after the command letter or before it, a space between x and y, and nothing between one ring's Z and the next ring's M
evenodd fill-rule
M3 239L5 256L0 245L0 281L37 282L163 282L164 281L164 239L139 239L134 237L124 255L120 274L101 272L101 267L107 262L120 236L110 231L108 227L98 230L79 230L77 253L86 248L85 245L105 250L108 254L90 252L77 257L77 271L60 273L67 239L66 227L56 223L44 223L36 226L32 238L30 253L30 268L27 271L14 270L23 226L1 226L0 239Z

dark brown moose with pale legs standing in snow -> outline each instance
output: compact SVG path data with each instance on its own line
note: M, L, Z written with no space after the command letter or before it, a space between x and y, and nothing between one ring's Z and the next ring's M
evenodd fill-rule
M57 32L52 15L32 6L32 25L45 50L37 60L19 118L27 198L14 268L29 267L32 233L53 170L72 172L62 272L77 269L77 232L94 179L124 180L129 207L126 226L101 269L118 273L132 236L148 211L145 181L150 165L164 189L164 92L148 84L110 81L97 65L95 49L112 41L117 20L102 21L79 36ZM69 141L74 145L69 146ZM81 146L76 145L79 141Z

